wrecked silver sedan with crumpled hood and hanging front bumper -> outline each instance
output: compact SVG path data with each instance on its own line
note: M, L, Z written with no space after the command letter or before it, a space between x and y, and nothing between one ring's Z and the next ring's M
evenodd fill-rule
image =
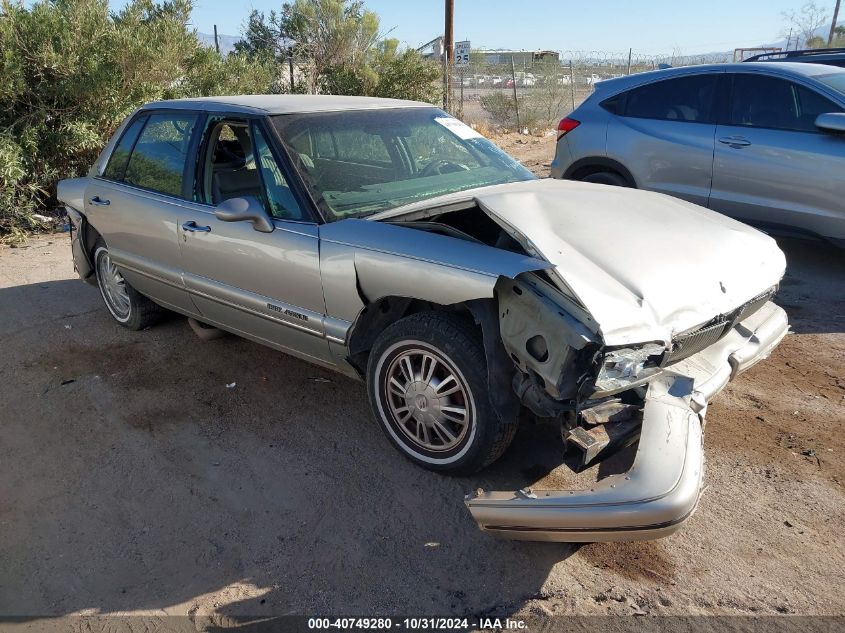
M152 103L58 195L130 329L166 310L366 383L416 464L468 474L519 420L560 424L588 490L477 491L511 538L670 534L694 511L709 400L788 330L766 235L666 196L537 180L428 104ZM562 447L563 450L563 447Z

